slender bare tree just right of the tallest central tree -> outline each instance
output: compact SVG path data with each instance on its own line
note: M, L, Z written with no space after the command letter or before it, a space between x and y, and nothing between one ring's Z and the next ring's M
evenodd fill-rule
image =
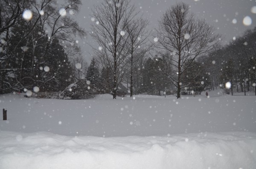
M145 52L148 51L149 47L146 45L149 32L146 29L148 21L142 18L132 20L126 27L128 33L127 49L129 56L127 57L129 68L130 68L130 97L133 96L133 72L134 63L144 56Z

